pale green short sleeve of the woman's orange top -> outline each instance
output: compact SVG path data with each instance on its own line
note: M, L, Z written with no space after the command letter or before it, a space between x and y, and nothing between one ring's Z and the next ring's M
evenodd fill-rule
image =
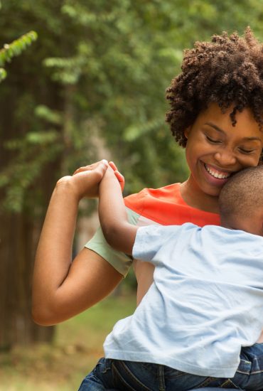
M139 214L133 210L126 208L129 223L136 225L139 219ZM119 252L110 247L102 233L101 227L97 229L95 235L92 237L89 242L86 243L85 247L88 249L97 252L102 258L104 258L109 264L111 264L114 269L117 270L124 277L129 272L129 267L132 264L132 257L124 254L124 252Z

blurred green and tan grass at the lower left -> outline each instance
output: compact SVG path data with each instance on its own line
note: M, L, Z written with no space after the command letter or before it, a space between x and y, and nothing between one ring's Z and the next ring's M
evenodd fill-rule
M61 323L52 345L16 346L0 355L0 391L75 391L103 355L114 323L132 314L135 296L109 296Z

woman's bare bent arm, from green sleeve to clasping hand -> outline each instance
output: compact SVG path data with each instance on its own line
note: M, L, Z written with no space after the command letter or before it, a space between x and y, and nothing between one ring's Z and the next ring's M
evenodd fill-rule
M55 186L33 272L32 314L36 323L65 321L102 300L122 281L122 274L87 248L72 262L78 203L83 197L98 195L106 170L103 162L92 164L60 179Z

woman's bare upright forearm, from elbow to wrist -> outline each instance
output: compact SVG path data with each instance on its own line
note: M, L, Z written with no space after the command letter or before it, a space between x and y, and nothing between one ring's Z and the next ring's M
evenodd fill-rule
M36 252L33 273L33 302L53 300L68 275L77 218L78 199L71 183L58 183L50 199Z

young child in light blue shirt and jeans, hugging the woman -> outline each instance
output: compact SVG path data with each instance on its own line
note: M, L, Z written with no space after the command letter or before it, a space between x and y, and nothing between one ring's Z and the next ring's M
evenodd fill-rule
M107 371L100 368L98 379L105 389L159 390L163 370L165 390L220 386L230 377L237 388L262 390L263 349L254 368L245 353L240 363L240 350L263 328L263 166L227 181L219 197L221 226L203 228L130 224L110 171L100 184L104 237L116 250L154 264L155 272L134 314L107 336Z

